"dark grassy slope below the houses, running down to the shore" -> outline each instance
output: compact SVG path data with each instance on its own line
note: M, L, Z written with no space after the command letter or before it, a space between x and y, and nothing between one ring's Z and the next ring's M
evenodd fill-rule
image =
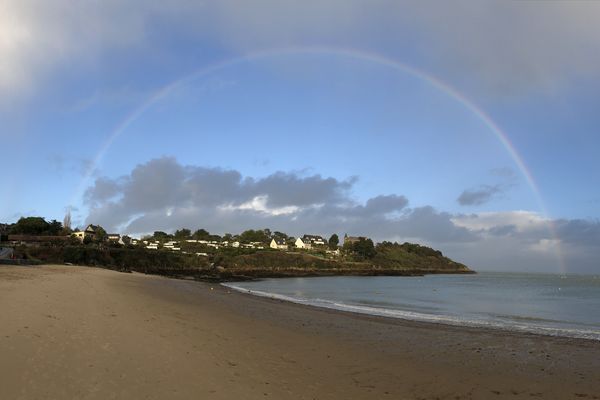
M210 258L161 250L92 246L27 247L18 248L16 253L45 263L73 263L120 271L204 279L471 272L465 265L456 263L433 249L403 246L378 246L374 258L362 261L353 260L351 257L331 259L304 252L277 250L227 249L211 255Z

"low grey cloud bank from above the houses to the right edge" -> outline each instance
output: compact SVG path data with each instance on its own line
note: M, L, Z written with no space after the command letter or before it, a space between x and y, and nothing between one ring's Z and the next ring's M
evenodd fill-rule
M253 178L163 157L118 178L97 178L85 195L86 223L130 234L182 227L363 234L428 244L476 269L600 272L600 221L551 221L531 211L453 215L409 207L400 194L359 202L356 179L291 172Z

